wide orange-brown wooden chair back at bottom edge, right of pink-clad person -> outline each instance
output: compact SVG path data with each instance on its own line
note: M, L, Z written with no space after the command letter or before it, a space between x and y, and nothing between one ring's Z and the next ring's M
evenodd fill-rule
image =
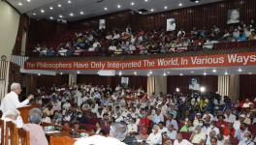
M50 136L49 144L50 145L74 145L75 140L69 136Z

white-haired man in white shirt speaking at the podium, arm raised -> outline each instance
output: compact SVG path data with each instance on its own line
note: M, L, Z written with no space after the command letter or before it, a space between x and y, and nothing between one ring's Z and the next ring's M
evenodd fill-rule
M30 95L27 97L27 99L23 102L18 101L18 95L21 93L20 84L14 82L11 85L11 92L7 94L1 103L1 110L4 113L6 113L8 110L11 110L17 114L19 114L19 111L16 108L25 106L28 104L28 102L34 98L33 95Z

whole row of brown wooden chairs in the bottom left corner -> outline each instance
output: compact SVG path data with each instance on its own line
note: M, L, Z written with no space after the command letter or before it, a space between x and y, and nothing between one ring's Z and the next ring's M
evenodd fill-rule
M16 128L13 122L0 120L1 145L29 145L29 131Z

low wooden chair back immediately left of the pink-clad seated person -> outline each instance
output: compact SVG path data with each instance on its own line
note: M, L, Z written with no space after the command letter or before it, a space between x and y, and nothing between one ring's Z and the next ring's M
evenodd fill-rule
M16 145L29 145L29 131L24 129L16 129Z

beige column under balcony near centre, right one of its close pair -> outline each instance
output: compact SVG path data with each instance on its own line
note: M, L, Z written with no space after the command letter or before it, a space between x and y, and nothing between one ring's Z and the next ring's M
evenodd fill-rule
M166 76L154 76L155 77L155 94L162 92L163 94L167 93L167 78Z

